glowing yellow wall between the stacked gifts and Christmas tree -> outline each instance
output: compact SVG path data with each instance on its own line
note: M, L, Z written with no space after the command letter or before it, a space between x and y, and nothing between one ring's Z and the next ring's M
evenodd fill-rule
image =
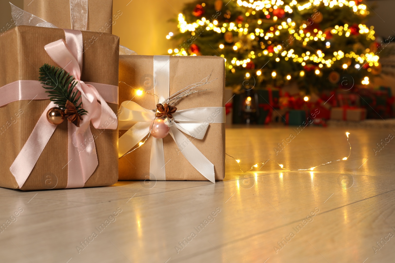
M178 29L177 23L168 20L177 19L186 2L191 0L114 0L113 13L120 10L122 15L113 34L120 37L120 45L139 55L167 54L172 45L166 35Z

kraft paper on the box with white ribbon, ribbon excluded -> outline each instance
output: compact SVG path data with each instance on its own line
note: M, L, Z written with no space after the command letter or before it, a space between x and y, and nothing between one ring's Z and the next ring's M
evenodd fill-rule
M146 109L156 108L154 96L143 93L136 95L140 88L153 88L154 56L127 55L119 59L119 104L132 100ZM211 74L213 82L200 87L206 90L188 95L174 106L178 110L198 107L224 107L225 65L224 59L215 56L170 56L169 95L190 84L200 82ZM125 85L122 83L125 82ZM149 90L153 93L153 90ZM225 114L224 114L225 115ZM120 136L125 130L120 130ZM183 133L184 134L184 133ZM202 140L184 134L198 150L214 164L215 180L223 180L225 175L225 123L210 123ZM119 159L119 180L146 180L150 174L150 153L152 137L138 149ZM168 134L163 138L166 180L207 181L182 155L173 138Z

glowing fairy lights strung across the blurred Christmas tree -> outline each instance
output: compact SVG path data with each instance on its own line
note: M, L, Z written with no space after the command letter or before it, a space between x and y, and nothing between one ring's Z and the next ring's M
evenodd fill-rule
M352 8L352 11L354 11L354 13L357 15L369 14L369 11L366 10L366 5L357 4L355 1L348 0L310 0L305 4L300 4L296 0L293 0L290 4L285 6L284 2L281 0L249 0L249 2L237 0L238 6L249 7L255 9L256 11L261 11L266 15L266 18L268 19L270 18L269 11L272 12L274 9L283 8L285 12L292 13L295 8L301 11L304 9L310 9L313 6L319 6L322 3L327 8L348 6ZM251 14L254 15L256 11L252 11ZM245 15L248 17L250 13L246 12ZM278 18L274 16L272 17L272 19L273 22L275 22ZM239 34L248 35L251 40L258 39L258 37L263 37L265 40L268 40L268 45L272 44L269 40L271 37L274 37L275 35L279 36L281 34L289 34L290 37L293 37L292 41L302 41L304 47L309 45L308 43L310 41L325 41L325 47L329 48L331 46L331 43L330 41L328 41L328 39L325 38L328 34L337 34L339 36L343 35L344 37L350 37L350 35L352 35L353 33L353 30L357 30L358 33L361 35L365 35L367 40L375 39L374 27L371 26L370 28L368 28L364 24L359 24L357 29L352 28L352 26L350 26L349 24L344 24L336 25L329 32L322 32L322 30L318 30L316 28L312 30L312 32L305 32L305 29L308 27L306 23L301 24L298 28L296 22L292 21L291 18L288 18L286 21L283 21L280 24L276 24L275 26L270 27L267 32L264 32L262 28L258 28L258 25L262 24L263 22L262 19L257 20L258 25L256 28L252 28L247 22L245 22L244 25L242 24L242 22L240 22L239 24L235 24L235 22L220 24L217 20L210 21L205 17L201 17L201 19L197 19L193 23L188 23L185 21L185 17L182 13L179 14L178 21L178 27L180 29L180 32L191 32L192 36L197 34L196 30L198 28L200 30L200 28L205 26L205 30L213 30L218 34L224 34L225 32L234 31L239 32ZM173 33L170 32L166 36L166 38L171 39L172 36ZM320 69L322 69L323 67L331 67L333 63L335 63L337 60L342 60L343 58L346 58L346 60L355 60L355 62L357 62L354 65L356 69L361 68L365 64L369 65L370 67L379 65L379 57L373 52L374 50L370 50L369 48L366 48L365 53L363 54L356 54L353 51L350 51L349 53L344 53L342 50L335 51L333 52L333 54L326 54L325 50L315 50L314 52L306 51L302 54L295 54L295 50L293 48L289 48L287 50L287 48L283 47L282 45L277 45L273 47L273 50L269 50L268 47L265 47L263 42L260 42L260 45L262 48L260 52L250 51L250 53L246 55L246 57L242 60L235 57L227 59L225 58L224 54L220 54L220 56L225 58L226 67L228 67L228 69L230 69L232 73L235 72L237 67L246 68L249 62L254 62L254 59L261 56L276 57L276 62L280 62L280 60L292 60L293 62L300 63L302 66L305 66L306 63L314 62L318 65L318 68L314 69L314 73L316 75L320 75ZM224 48L231 48L235 52L237 52L237 50L241 48L241 43L236 42L233 46L225 46L221 43L218 45L218 48L219 50L224 50ZM175 56L188 56L188 52L184 48L169 49L168 53ZM192 56L196 56L196 54L192 54ZM350 64L350 62L343 63L342 68L347 69ZM262 74L262 71L256 70L255 74L257 76L260 76ZM246 77L249 77L250 75L251 72L246 73ZM273 78L276 78L276 75L276 71L273 71L271 73L271 76ZM303 77L304 75L305 71L301 70L299 72L299 76ZM287 80L290 80L292 76L286 75L285 78ZM361 83L364 85L369 84L369 77L366 76Z

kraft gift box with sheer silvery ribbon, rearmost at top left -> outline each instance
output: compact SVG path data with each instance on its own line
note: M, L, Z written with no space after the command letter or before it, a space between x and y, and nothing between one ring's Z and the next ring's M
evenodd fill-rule
M54 24L58 28L112 32L112 25L122 12L113 17L112 0L24 0L24 11Z

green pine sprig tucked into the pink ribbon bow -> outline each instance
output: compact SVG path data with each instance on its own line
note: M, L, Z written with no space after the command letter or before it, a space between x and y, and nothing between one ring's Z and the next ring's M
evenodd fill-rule
M66 102L70 101L80 116L87 114L87 111L82 108L82 102L78 103L81 95L77 97L78 91L73 91L77 81L70 73L66 73L60 67L44 64L40 67L39 80L44 85L43 88L47 90L45 92L49 93L49 99L59 108L66 110Z

